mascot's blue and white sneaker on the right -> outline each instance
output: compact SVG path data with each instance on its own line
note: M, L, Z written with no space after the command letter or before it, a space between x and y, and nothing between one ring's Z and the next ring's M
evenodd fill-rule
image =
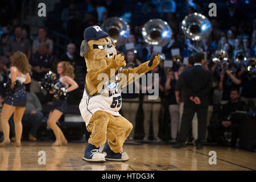
M106 160L113 160L113 161L126 161L129 160L129 156L126 154L125 151L122 151L120 153L113 152L108 144L108 141L105 144L104 149L102 152L105 154Z

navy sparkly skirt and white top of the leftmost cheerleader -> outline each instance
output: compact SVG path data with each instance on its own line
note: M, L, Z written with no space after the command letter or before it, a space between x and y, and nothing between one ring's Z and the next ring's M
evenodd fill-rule
M11 78L11 73L9 74L9 78ZM18 80L22 85L19 85L15 91L11 90L9 94L7 94L4 103L16 106L16 107L26 107L27 103L27 92L24 89L24 82L26 81L26 75L21 73L20 76L16 76L16 80Z

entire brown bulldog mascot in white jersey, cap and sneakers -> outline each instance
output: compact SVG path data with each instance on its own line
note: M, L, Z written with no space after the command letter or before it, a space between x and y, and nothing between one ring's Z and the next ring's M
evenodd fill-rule
M111 78L115 77L120 67L126 66L126 62L123 56L117 55L113 40L99 26L85 29L80 55L85 59L88 73L79 109L86 129L91 132L83 160L100 163L105 160L129 160L123 151L123 143L133 125L118 112L122 102L121 88L158 65L160 56L137 68L122 69L121 73L127 79L113 80ZM101 75L105 75L103 80ZM104 144L100 151L100 146Z

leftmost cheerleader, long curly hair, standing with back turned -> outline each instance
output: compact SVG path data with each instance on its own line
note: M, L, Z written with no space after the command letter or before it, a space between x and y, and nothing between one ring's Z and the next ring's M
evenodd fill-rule
M20 138L22 136L22 117L26 108L27 93L24 89L24 84L28 84L31 81L29 72L31 71L31 65L28 63L27 56L18 51L14 53L11 59L11 68L9 78L11 79L11 91L6 96L2 114L2 129L5 139L0 143L0 147L5 147L10 143L10 126L9 118L14 113L14 125L16 135L16 147L20 147ZM18 81L18 86L15 86L15 82Z

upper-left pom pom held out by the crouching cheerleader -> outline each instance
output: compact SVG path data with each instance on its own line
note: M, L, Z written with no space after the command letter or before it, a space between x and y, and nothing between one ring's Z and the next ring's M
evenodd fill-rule
M56 82L57 82L56 74L49 71L48 73L46 73L46 75L44 75L44 78L42 79L42 81L40 81L40 85L42 89L49 91L53 89L53 86L56 84Z

